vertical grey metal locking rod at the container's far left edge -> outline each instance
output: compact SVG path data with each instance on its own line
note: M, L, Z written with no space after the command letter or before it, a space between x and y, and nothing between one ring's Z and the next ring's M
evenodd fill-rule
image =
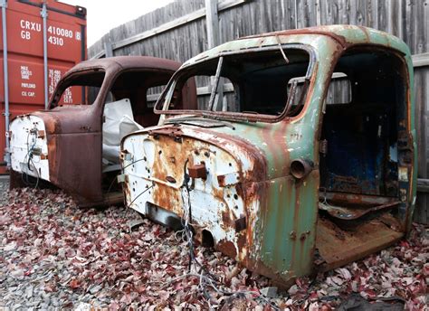
M5 82L5 155L4 161L7 164L7 167L10 167L10 143L9 143L9 72L7 67L7 28L6 28L6 6L7 0L1 1L2 5L2 26L3 26L3 75Z

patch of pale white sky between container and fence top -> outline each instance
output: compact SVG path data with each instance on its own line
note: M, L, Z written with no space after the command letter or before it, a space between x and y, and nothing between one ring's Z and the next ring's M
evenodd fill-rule
M61 0L87 9L88 47L110 29L152 12L174 0Z

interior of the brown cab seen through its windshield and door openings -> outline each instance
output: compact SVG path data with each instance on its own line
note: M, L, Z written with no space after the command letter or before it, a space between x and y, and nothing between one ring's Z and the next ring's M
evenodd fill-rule
M121 187L115 183L120 172L120 140L133 131L157 125L159 116L154 114L153 104L172 74L173 71L167 70L123 71L110 82L108 90L105 90L103 89L104 84L107 84L105 72L88 71L79 73L69 80L67 88L56 99L58 106L65 106L64 99L74 88L82 90L81 92L85 94L81 99L83 105L100 105L99 101L102 101L101 180L105 200L109 203L122 202ZM97 110L91 110L92 113L95 111Z

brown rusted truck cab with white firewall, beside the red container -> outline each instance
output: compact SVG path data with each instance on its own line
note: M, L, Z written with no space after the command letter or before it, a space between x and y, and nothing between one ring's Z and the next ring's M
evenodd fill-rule
M11 122L11 187L49 182L81 206L123 202L114 182L120 138L157 124L151 97L179 67L176 61L146 56L73 67L58 82L49 109ZM73 102L72 88L82 94ZM189 107L192 103L186 99Z

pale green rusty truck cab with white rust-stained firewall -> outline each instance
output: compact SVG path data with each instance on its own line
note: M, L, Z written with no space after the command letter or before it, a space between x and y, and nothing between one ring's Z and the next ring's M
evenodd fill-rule
M189 80L207 96L176 108ZM126 202L277 282L403 238L415 206L408 47L332 25L224 43L186 63L158 127L124 137ZM204 88L205 85L210 85Z

